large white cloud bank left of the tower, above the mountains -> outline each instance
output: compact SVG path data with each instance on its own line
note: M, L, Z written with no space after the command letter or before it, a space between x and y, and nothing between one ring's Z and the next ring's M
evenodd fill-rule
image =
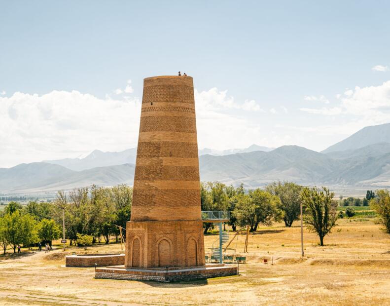
M134 147L140 112L136 97L100 99L75 90L0 97L0 167Z

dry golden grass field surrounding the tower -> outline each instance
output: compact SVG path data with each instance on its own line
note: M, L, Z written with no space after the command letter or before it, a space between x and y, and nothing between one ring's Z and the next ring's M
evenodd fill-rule
M216 238L205 237L207 251ZM0 257L0 304L390 305L390 236L374 219L339 220L324 247L305 231L305 258L298 223L250 234L247 254L244 241L240 235L247 264L239 276L181 283L94 279L94 268L63 267L70 251L120 252L120 244Z

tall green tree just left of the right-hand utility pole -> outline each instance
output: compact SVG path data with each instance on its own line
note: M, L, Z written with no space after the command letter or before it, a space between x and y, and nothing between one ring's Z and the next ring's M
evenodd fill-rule
M299 219L302 189L302 186L292 182L274 182L266 187L266 191L280 198L278 208L283 211L286 227L291 227L294 220Z

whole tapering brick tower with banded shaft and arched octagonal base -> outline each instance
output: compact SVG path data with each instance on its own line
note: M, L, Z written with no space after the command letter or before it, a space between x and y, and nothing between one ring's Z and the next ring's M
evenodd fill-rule
M125 267L205 265L192 77L143 80Z

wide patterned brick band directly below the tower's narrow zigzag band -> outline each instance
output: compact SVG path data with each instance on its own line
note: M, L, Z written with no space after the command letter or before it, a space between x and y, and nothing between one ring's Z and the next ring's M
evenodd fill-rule
M177 116L141 117L140 132L156 131L196 133L195 118Z

